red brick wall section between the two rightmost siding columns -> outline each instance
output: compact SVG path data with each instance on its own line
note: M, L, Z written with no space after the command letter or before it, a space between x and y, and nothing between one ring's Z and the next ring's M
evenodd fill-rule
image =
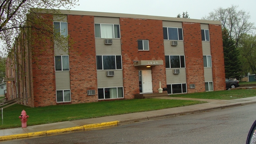
M183 22L184 50L188 93L205 91L200 23ZM189 89L195 84L195 89Z

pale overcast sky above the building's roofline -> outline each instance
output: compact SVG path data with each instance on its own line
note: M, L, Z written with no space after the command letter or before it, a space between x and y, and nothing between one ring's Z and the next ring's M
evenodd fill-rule
M256 25L256 0L79 0L71 10L141 14L176 17L188 12L191 19L201 19L218 7L238 5L238 10L250 12L250 22Z

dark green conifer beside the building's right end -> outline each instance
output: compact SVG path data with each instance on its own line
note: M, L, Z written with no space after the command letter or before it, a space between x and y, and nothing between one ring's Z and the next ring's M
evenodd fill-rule
M230 37L226 29L222 30L223 52L226 78L240 79L241 62L238 58L238 50L235 41Z

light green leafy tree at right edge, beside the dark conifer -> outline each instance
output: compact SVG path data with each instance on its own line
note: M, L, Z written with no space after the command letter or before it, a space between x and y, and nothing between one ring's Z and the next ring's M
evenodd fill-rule
M243 73L256 74L256 35L245 34L238 45L240 60L243 62Z

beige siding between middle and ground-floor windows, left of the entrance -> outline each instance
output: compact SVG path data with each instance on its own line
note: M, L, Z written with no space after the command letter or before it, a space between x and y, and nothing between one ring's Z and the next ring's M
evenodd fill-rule
M106 71L114 71L114 76L106 76ZM97 70L98 88L122 87L123 70Z

